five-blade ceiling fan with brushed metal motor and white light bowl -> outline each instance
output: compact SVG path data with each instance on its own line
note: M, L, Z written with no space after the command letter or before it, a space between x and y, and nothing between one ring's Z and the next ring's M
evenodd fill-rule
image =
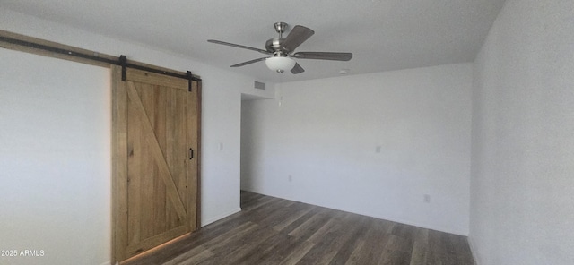
M266 57L257 58L251 61L243 62L240 64L233 64L230 67L239 67L247 64L253 64L260 61L265 61L267 67L274 72L283 73L285 70L291 70L291 73L303 73L305 70L292 58L297 59L318 59L318 60L335 60L335 61L349 61L352 58L352 53L331 53L331 52L297 52L293 51L299 47L303 42L310 38L315 31L309 28L297 25L293 27L289 35L283 38L283 32L287 28L287 23L276 22L274 29L279 33L279 38L269 38L265 42L265 50L257 47L247 47L239 44L224 42L221 40L208 39L207 41L215 44L226 45L230 47L240 47L248 50L253 50L267 55Z

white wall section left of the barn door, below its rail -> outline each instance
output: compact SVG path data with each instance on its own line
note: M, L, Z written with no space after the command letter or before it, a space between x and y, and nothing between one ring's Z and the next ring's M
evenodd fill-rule
M0 263L109 261L109 69L6 49L0 69L0 250L18 251Z

